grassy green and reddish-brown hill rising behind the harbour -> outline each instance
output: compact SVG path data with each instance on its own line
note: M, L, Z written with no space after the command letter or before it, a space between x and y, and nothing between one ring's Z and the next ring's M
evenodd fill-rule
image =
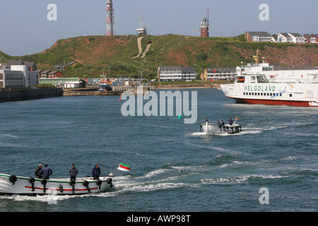
M249 43L242 37L189 37L184 35L146 35L141 41L146 58L139 54L136 35L82 36L58 40L44 52L18 57L35 61L40 69L81 62L69 67L64 76L98 77L102 70L111 76L156 78L158 66L194 66L198 73L206 67L235 67L252 61L257 49L270 64L312 66L318 62L318 44ZM1 54L0 54L1 57ZM10 56L8 56L10 57Z

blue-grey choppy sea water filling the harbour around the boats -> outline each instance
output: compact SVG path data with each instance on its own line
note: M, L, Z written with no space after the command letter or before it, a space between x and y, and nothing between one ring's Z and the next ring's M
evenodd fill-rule
M317 108L242 105L198 89L198 120L124 117L118 96L0 103L0 173L53 177L114 173L101 194L0 196L0 211L317 211ZM158 92L158 91L156 91ZM182 92L182 90L181 90ZM206 118L240 118L242 132L206 136ZM266 194L264 194L264 188ZM266 197L264 198L264 196ZM266 203L262 200L266 199Z

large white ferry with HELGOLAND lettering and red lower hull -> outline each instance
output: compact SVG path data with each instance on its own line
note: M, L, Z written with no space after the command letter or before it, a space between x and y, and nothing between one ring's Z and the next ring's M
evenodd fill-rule
M262 105L318 107L318 69L273 70L268 63L237 66L234 84L223 84L226 97Z

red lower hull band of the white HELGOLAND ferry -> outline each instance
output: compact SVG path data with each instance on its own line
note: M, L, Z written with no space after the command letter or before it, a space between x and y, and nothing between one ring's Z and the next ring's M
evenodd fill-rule
M237 102L247 103L252 105L288 105L297 107L311 107L307 101L293 101L293 100L257 100L257 99L241 99L233 98Z

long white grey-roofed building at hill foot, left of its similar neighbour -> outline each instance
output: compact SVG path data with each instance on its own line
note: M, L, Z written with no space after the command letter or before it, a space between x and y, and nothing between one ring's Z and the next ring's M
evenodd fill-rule
M158 81L193 81L195 79L196 71L193 67L158 67Z

